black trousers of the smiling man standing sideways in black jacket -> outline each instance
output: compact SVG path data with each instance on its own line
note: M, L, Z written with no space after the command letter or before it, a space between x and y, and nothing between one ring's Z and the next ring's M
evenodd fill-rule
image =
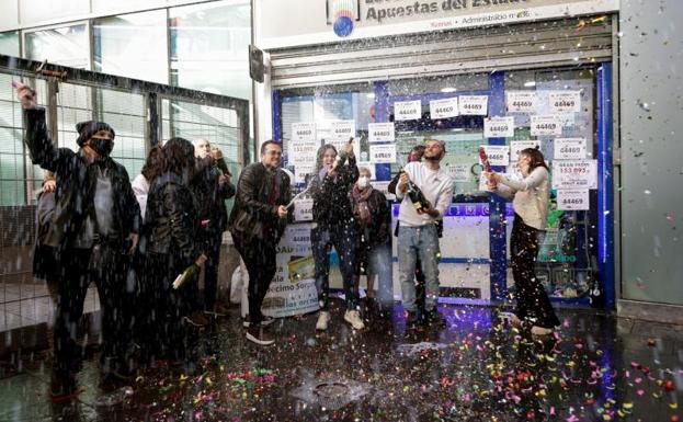
M236 236L232 238L235 248L244 260L249 273L249 320L255 324L263 318L261 305L277 269L275 263L277 241L259 238L244 241Z

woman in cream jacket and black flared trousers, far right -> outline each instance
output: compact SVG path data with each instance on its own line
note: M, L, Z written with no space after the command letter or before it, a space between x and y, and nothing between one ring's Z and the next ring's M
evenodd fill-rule
M521 182L496 172L483 174L489 180L489 186L496 186L491 191L511 198L514 208L510 238L512 276L516 286L513 323L528 323L533 334L546 335L559 326L548 294L534 270L538 238L545 231L548 216L548 167L543 153L535 148L522 150L517 166L524 178Z

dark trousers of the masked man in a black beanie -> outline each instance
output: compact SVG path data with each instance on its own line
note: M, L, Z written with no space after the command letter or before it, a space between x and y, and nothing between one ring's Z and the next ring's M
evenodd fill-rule
M102 313L102 357L104 362L125 365L130 341L135 277L129 259L118 248L101 244L94 249L62 251L58 265L57 316L55 318L55 372L71 376L79 364L81 347L78 329L83 316L88 285L98 287Z

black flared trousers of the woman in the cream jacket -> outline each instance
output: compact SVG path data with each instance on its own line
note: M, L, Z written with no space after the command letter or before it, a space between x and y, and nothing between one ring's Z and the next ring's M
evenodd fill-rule
M532 320L534 326L553 328L559 326L560 322L535 272L538 235L538 229L525 225L515 214L510 238L512 276L517 299L514 313L522 320Z

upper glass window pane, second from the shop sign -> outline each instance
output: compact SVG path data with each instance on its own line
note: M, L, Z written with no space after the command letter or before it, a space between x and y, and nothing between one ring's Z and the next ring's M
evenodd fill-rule
M93 21L94 70L168 83L166 10Z

